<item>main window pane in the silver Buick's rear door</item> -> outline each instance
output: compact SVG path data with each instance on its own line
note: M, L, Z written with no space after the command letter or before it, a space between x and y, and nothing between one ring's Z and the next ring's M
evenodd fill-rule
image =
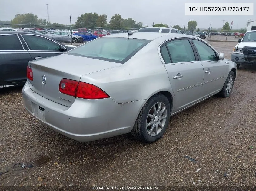
M194 51L188 39L173 40L166 44L173 63L195 61Z

